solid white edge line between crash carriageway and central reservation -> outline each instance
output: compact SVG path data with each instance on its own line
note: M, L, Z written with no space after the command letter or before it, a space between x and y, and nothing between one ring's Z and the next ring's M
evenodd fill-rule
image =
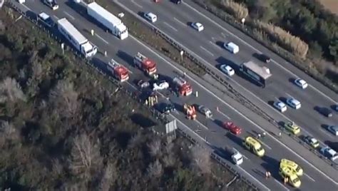
M165 61L165 63L168 63L168 65L170 65L171 67L175 68L175 70L180 71L180 73L183 73L183 71L180 70L180 68L176 67L173 65L173 63L170 63L170 61L167 61L165 58L163 58L162 56L160 56L158 53L156 53L155 51L153 51L151 48L149 48L148 46L146 46L144 43L142 43L141 41L139 41L137 38L133 37L130 35L131 38L133 38L135 41L137 41L138 43L140 43L140 45L142 45L143 47L145 47L146 49L148 49L148 51L152 52L153 54L155 54L156 56L158 56L158 58L161 58L163 61ZM205 90L205 92L210 93L212 96L214 96L217 100L219 100L220 102L224 103L225 105L227 105L229 108L231 108L232 110L234 110L236 113L238 113L239 115L242 116L242 118L245 118L247 121L249 121L250 123L252 123L252 125L255 125L258 129L262 130L265 132L265 130L263 128L260 127L260 125L257 125L255 122L253 122L252 120L250 120L250 118L247 118L247 116L243 115L242 113L240 113L240 111L238 111L237 109L233 108L231 105L229 105L228 103L226 103L224 100L222 100L221 98L219 98L218 96L215 95L215 93L212 93L212 91L208 90L208 88L205 88L204 86L202 86L200 83L198 83L198 81L195 81L194 78L190 77L187 75L188 78L190 78L191 81L193 81L195 84L197 84L198 86L200 86L201 88L203 88ZM284 143L282 143L280 140L278 140L277 138L275 138L274 135L271 135L270 133L267 133L267 135L269 135L273 140L275 140L277 143L280 143L280 145L282 145L284 148L286 148L287 150L289 150L291 153L293 153L294 155L296 155L298 158L300 158L301 160L303 160L304 162L306 162L309 166L311 166L312 168L314 168L314 170L317 170L320 174L322 174L324 177L327 177L328 180L334 182L334 184L338 185L338 183L333 180L331 177L329 177L327 174L325 174L324 172L322 172L322 170L319 170L317 167L315 167L314 165L312 165L311 162L305 160L301 155L299 155L298 153L296 153L294 150L292 150L291 148L289 148L287 145L285 145Z

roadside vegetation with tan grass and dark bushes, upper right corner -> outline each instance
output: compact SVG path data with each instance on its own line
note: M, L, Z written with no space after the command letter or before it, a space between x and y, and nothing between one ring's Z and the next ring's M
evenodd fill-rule
M338 16L318 1L193 1L338 92Z

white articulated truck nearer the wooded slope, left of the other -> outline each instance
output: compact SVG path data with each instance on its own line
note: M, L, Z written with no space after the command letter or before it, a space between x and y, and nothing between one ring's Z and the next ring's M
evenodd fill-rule
M66 18L58 20L58 31L86 58L94 56L98 48L83 36Z

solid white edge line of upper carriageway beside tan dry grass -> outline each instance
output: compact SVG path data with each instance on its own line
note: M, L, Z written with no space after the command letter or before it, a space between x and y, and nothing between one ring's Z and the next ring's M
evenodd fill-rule
M249 46L250 48L252 48L253 50L257 51L257 53L262 53L261 51L259 51L257 48L253 47L252 45L250 45L250 43L247 43L246 41L242 40L242 38L236 36L234 33L228 31L227 29L225 29L223 26L221 26L220 24L217 24L217 22L213 21L212 19L210 19L208 16L205 16L204 14L202 14L200 11L198 11L197 9L193 8L192 6L190 6L189 4L183 2L183 4L185 4L186 6L188 6L190 9L193 9L193 11L197 12L198 14L200 14L201 16L203 16L205 19L208 19L210 22L212 22L213 24L215 24L216 26L220 27L220 29L223 29L224 31L227 31L227 33L230 33L232 36L234 36L235 38L237 38L238 40L242 41L242 43L245 43L245 45ZM222 33L222 35L224 36L224 33ZM285 60L285 59L283 59ZM276 63L277 66L280 66L280 68L284 69L285 71L287 71L287 73L290 73L291 76L294 76L297 78L297 75L295 75L295 73L292 73L292 71L289 71L287 68L285 68L284 66L282 66L280 63L277 63L277 61L271 59L272 62ZM309 84L309 86L311 88L314 89L314 91L317 91L317 93L321 94L322 96L324 96L325 98L327 98L328 100L333 101L334 103L336 103L336 100L330 98L329 96L325 95L324 93L322 93L322 91L319 91L317 88L315 88L314 86L312 86L311 84Z

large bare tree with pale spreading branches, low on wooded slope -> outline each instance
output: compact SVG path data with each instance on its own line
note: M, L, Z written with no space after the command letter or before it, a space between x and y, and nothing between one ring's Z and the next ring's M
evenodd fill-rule
M86 134L76 136L69 161L73 173L90 178L91 172L97 170L102 162L98 144L93 143Z

